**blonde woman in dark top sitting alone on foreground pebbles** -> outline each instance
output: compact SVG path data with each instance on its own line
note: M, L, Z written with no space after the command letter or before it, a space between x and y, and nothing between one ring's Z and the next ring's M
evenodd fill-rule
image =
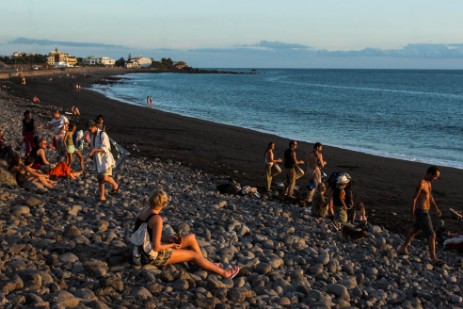
M136 231L143 223L147 223L148 233L151 235L152 248L156 253L153 259L145 254L145 258L150 260L151 265L164 266L182 262L193 262L204 270L212 271L225 278L234 278L240 268L233 266L229 270L222 268L222 265L212 263L201 253L196 237L188 234L181 237L164 237L162 236L162 217L159 213L168 203L167 194L163 190L154 191L148 200L148 205L137 216L135 223Z

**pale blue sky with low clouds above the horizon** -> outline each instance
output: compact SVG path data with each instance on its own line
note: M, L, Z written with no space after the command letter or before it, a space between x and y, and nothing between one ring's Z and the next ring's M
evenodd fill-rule
M0 54L142 55L197 68L463 69L461 0L14 0Z

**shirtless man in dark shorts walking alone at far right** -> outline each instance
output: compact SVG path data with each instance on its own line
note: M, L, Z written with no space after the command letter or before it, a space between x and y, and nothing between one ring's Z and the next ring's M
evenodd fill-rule
M411 207L411 219L413 222L413 227L408 233L405 243L399 250L401 254L408 254L408 246L412 242L416 233L419 230L422 230L425 236L428 238L428 248L431 255L431 263L436 266L445 264L444 261L436 257L436 233L434 232L432 221L429 217L429 210L431 207L434 208L438 217L442 215L431 193L431 182L439 178L439 176L439 168L436 166L431 166L428 168L426 176L424 176L418 183L415 194L413 196Z

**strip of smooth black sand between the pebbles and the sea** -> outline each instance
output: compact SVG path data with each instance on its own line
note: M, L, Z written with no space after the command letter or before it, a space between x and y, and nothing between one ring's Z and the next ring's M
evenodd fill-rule
M277 145L276 155L282 157L288 139L249 129L232 127L170 114L159 110L111 100L97 92L82 89L75 92L74 85L92 85L108 76L134 73L134 71L96 70L92 73L54 75L49 81L45 76L29 77L25 86L14 83L12 93L23 98L38 95L42 104L61 106L69 110L79 106L82 117L80 127L89 118L103 114L111 137L125 145L134 156L178 161L194 169L214 175L229 176L242 185L263 186L263 151L269 141ZM64 72L66 73L66 72ZM15 82L15 80L12 80ZM322 143L329 141L320 141ZM136 147L134 147L136 145ZM312 145L300 143L298 157L306 161ZM346 171L355 181L356 201L367 207L369 221L390 230L405 232L409 228L409 211L414 186L424 176L427 164L399 159L377 157L336 147L325 147L327 173ZM461 210L459 195L463 170L442 167L442 178L433 184L434 197L442 209L442 219L451 231L458 231L459 224L449 208ZM275 180L280 182L284 176ZM304 188L307 179L298 181ZM297 206L295 206L297 207Z

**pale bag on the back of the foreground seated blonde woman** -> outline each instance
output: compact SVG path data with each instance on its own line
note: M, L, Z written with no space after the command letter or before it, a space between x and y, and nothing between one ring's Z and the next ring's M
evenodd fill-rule
M134 261L141 257L143 264L148 264L158 256L158 252L153 250L148 233L148 222L155 215L151 214L130 236L130 242L135 246L132 251Z

